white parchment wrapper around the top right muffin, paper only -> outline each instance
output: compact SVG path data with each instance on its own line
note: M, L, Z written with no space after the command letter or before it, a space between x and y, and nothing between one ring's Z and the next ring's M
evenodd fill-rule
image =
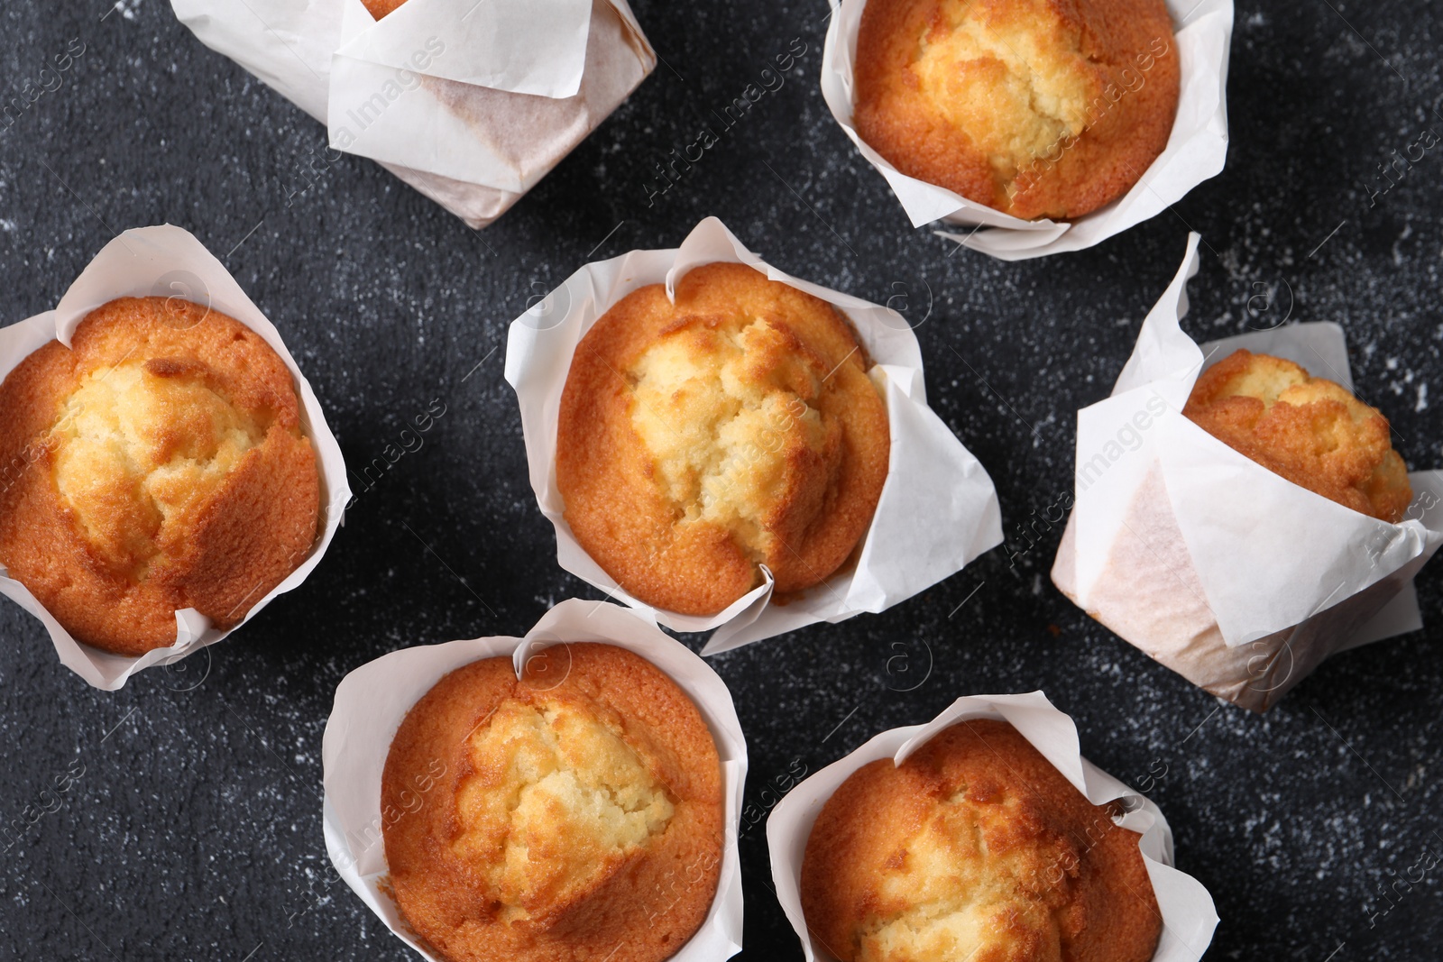
M1222 172L1228 153L1228 46L1232 39L1232 0L1167 0L1173 32L1169 56L1182 58L1177 118L1167 147L1131 190L1113 203L1071 222L1023 221L968 200L925 180L900 173L867 146L851 125L853 63L866 0L831 0L833 17L821 59L821 92L833 117L857 150L892 185L912 226L947 221L977 229L942 234L1003 261L1022 261L1085 247L1120 234L1180 200L1189 190ZM1126 94L1124 94L1126 97Z

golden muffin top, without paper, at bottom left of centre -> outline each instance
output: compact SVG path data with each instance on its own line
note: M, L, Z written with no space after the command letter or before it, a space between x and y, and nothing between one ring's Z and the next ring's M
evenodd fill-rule
M390 886L447 962L658 962L701 926L722 767L690 698L602 643L442 678L381 780Z

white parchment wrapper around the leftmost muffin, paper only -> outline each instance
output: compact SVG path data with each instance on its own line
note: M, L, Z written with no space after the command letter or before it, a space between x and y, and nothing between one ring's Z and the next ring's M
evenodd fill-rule
M251 303L231 273L205 250L188 231L173 226L146 226L126 231L101 248L81 275L75 278L55 310L36 314L17 325L0 329L0 379L10 374L25 358L39 350L51 340L69 346L85 314L117 297L177 297L206 304L222 314L229 314L268 343L280 355L294 379L296 395L300 398L300 424L316 451L316 467L320 470L320 511L323 524L316 542L304 561L266 597L255 601L245 622L260 614L271 599L297 587L320 564L320 557L330 545L330 538L341 526L342 513L351 500L351 486L346 483L346 464L341 457L326 415L320 410L316 394L296 359L290 356L276 325ZM202 322L203 323L203 322ZM95 688L117 691L126 681L152 665L170 663L179 658L214 645L231 632L212 627L211 620L195 609L176 612L176 642L169 648L157 648L140 658L111 655L98 648L82 645L61 627L59 622L36 600L30 591L6 577L0 567L0 594L13 599L30 614L45 623L55 643L61 662Z

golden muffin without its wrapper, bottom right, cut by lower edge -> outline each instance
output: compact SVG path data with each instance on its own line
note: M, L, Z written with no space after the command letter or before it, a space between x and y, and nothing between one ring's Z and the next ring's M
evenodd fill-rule
M1162 916L1120 813L1007 723L961 721L823 806L807 927L841 962L1147 962Z

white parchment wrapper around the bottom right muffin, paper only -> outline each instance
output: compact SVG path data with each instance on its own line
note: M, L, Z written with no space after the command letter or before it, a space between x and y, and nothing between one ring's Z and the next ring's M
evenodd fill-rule
M1137 847L1147 865L1147 877L1157 896L1163 933L1153 962L1196 962L1212 942L1218 913L1212 896L1192 875L1173 868L1173 839L1167 819L1143 795L1101 772L1082 757L1078 730L1072 718L1059 711L1040 691L1026 695L967 695L954 701L925 725L892 728L874 736L864 746L833 762L786 793L766 819L766 845L772 855L772 883L786 919L802 942L807 962L834 956L807 929L802 916L802 855L812 825L823 805L853 772L879 759L898 764L937 733L968 718L996 718L1012 724L1051 762L1068 782L1094 805L1128 799L1131 811L1117 824L1141 838Z

